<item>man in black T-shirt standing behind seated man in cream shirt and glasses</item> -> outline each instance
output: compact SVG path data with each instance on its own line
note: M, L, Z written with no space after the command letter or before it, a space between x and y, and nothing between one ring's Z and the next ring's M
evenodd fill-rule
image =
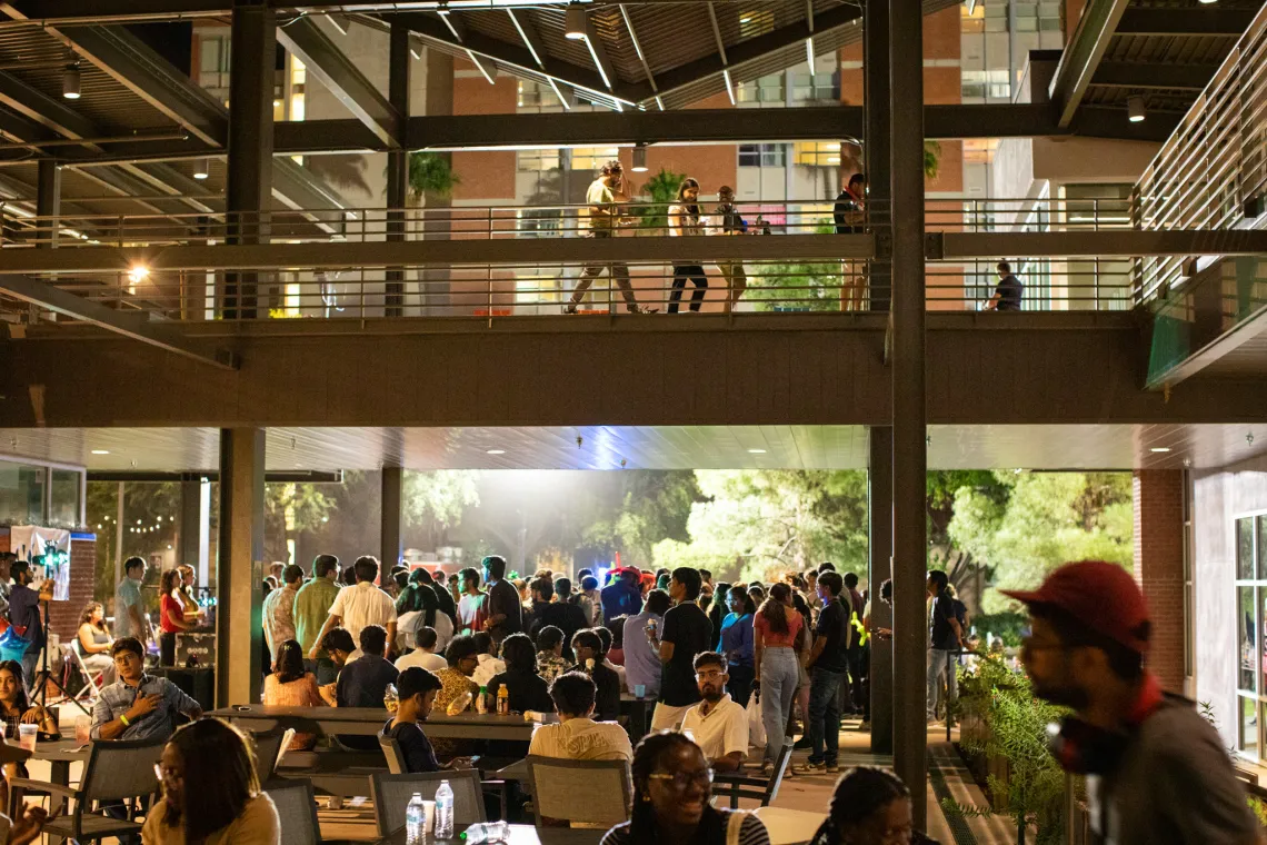
M646 635L661 665L660 697L651 713L653 731L677 728L687 711L699 702L694 660L701 651L708 651L712 642L712 625L696 603L702 587L698 569L679 566L673 570L669 595L674 606L664 614L664 630Z

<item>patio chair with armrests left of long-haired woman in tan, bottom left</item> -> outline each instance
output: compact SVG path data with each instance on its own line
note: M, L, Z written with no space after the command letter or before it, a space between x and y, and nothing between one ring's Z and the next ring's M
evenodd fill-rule
M68 812L44 825L44 832L52 836L89 842L106 837L119 837L127 834L139 834L137 802L152 798L158 780L155 765L162 758L165 740L119 740L113 742L94 742L92 751L84 765L84 779L79 787L60 787L43 780L14 778L9 782L10 796L14 788L27 788L47 792L52 802L63 810L66 802L73 802ZM10 803L11 803L10 798ZM115 807L124 802L127 818L106 815L95 804L109 802ZM14 808L9 807L10 817Z

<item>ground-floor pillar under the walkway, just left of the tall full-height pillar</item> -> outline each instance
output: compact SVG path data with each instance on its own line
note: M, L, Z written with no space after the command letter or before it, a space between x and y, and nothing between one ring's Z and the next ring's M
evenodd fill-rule
M868 554L872 627L893 628L893 611L879 588L893 576L893 429L872 426L867 474ZM870 640L872 754L893 753L893 641Z

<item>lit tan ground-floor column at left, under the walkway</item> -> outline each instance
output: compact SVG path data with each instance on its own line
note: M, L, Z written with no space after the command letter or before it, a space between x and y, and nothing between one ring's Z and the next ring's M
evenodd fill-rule
M215 566L215 704L260 701L264 685L264 429L220 429Z

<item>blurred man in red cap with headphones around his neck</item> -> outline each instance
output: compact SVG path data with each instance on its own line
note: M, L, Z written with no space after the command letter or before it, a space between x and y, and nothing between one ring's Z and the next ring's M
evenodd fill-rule
M1097 841L1263 841L1218 732L1144 669L1148 606L1126 570L1067 564L1036 590L1001 592L1030 613L1021 661L1034 692L1074 711L1053 731L1052 753L1087 775Z

